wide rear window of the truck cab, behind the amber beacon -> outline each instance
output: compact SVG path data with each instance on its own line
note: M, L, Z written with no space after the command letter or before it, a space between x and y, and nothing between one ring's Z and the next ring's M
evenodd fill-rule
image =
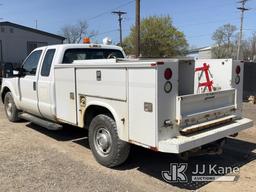
M117 49L67 49L63 56L63 64L73 63L75 60L90 60L90 59L114 59L124 58L122 51Z

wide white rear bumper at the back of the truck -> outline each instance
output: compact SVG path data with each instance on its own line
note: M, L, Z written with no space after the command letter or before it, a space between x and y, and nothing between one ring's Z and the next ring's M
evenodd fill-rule
M242 118L228 125L224 125L216 129L211 129L196 135L178 136L177 138L159 141L158 150L166 153L182 153L214 142L218 139L233 135L252 126L252 120Z

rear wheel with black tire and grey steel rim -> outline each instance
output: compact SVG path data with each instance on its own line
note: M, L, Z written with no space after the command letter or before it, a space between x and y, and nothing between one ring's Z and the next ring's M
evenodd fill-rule
M107 115L96 116L89 127L89 144L98 163L115 167L129 156L130 144L119 139L115 121Z

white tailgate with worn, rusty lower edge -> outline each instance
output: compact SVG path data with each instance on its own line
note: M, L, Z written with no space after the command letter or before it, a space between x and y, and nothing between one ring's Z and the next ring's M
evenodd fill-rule
M236 112L236 90L178 96L176 123L184 128L210 120L233 116Z

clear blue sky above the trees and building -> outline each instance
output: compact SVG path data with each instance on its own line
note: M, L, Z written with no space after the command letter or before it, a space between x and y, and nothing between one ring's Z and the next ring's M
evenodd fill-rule
M134 0L0 0L0 18L29 27L59 34L66 24L87 20L89 28L98 32L101 41L108 36L118 42L117 17L113 10L126 11L123 29L129 33L135 21ZM231 23L239 27L240 12L237 0L141 0L141 16L170 15L173 23L183 31L190 45L211 45L214 30ZM245 14L245 35L256 31L256 0L250 0Z

